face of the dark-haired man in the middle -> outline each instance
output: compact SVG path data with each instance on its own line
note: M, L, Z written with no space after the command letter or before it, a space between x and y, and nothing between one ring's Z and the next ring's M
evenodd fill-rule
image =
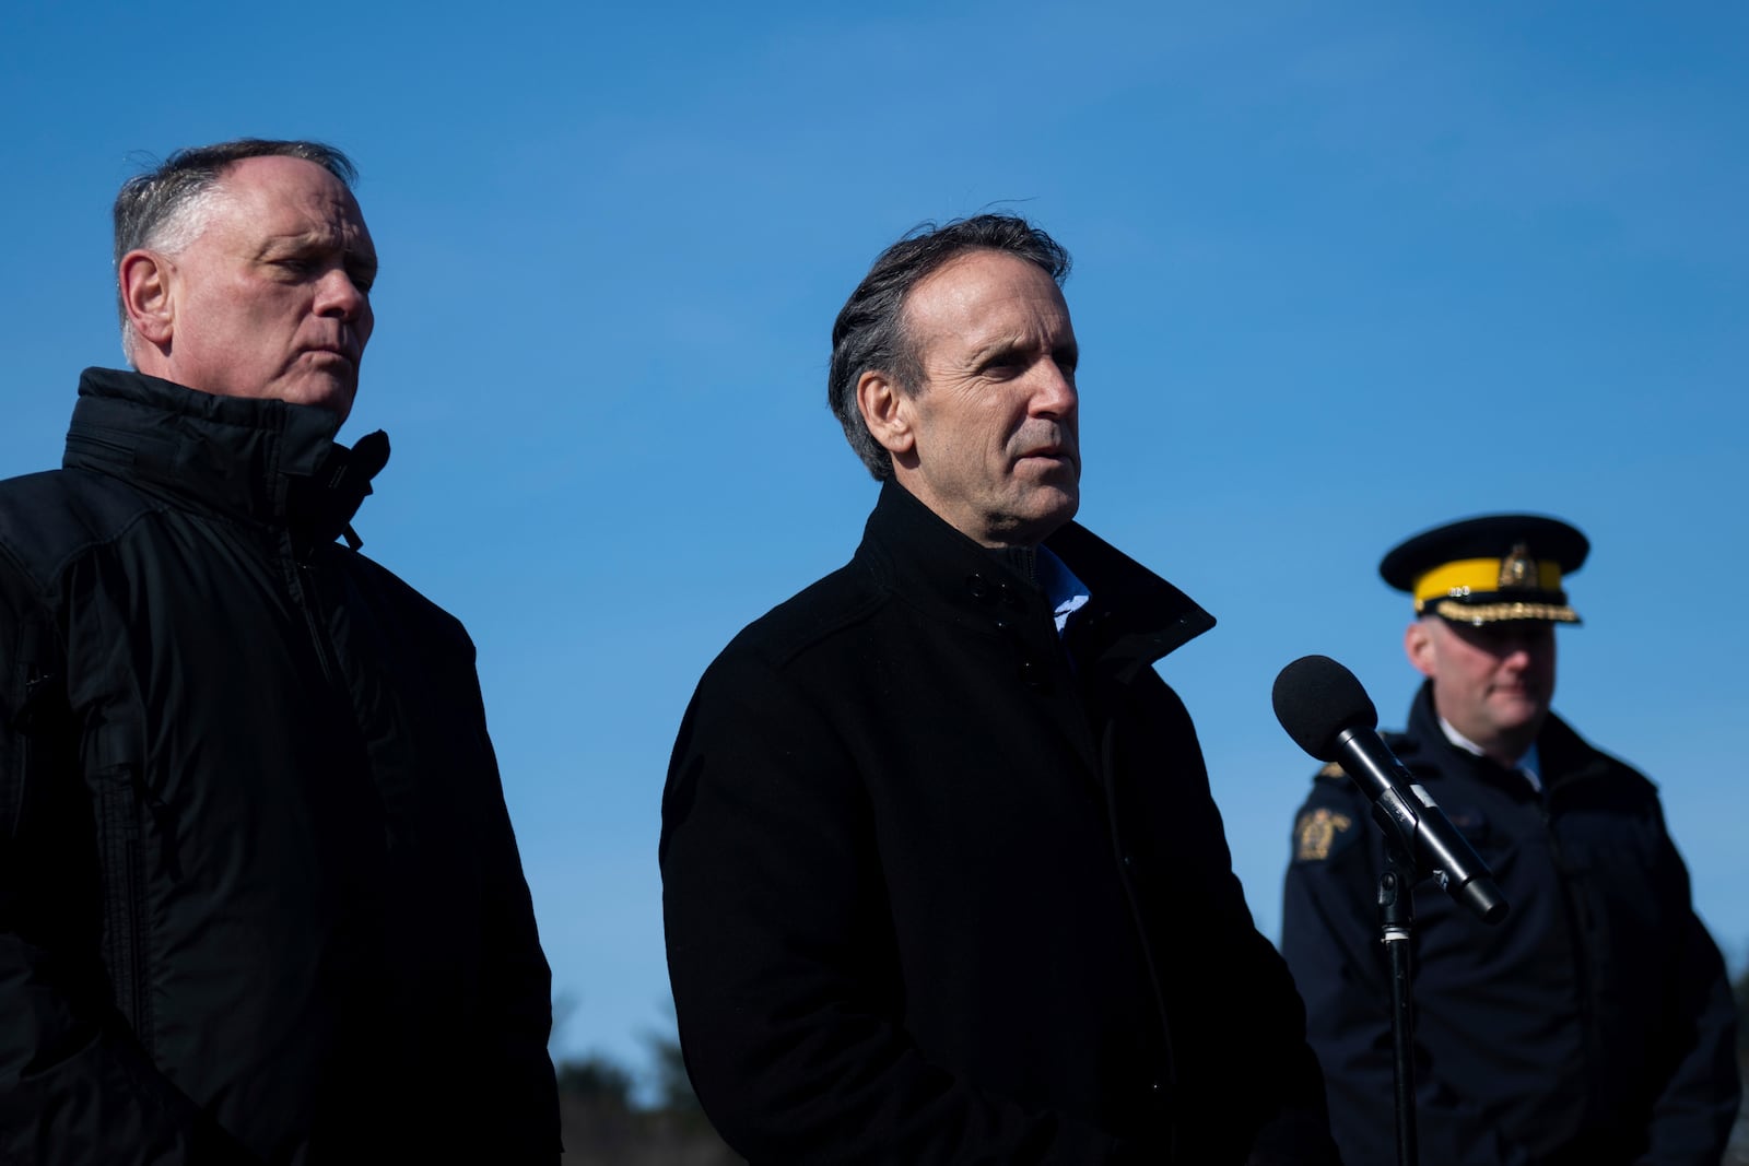
M1042 542L1081 503L1076 332L1037 266L1000 252L953 259L906 297L923 383L864 404L894 477L960 533L990 547ZM880 416L871 414L871 407Z

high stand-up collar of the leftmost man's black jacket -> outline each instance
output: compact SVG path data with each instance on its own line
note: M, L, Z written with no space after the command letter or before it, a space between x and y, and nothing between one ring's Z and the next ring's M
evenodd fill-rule
M327 409L86 369L61 465L287 526L299 540L332 542L345 531L359 545L352 516L388 462L388 437L378 430L348 449L336 428Z

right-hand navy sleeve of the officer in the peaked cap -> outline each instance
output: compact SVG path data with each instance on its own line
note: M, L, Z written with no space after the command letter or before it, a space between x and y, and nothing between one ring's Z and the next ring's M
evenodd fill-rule
M1742 1101L1737 1072L1737 1002L1718 944L1690 906L1688 869L1669 836L1670 914L1683 920L1669 951L1663 1031L1669 1058L1651 1107L1646 1166L1716 1163L1730 1143Z

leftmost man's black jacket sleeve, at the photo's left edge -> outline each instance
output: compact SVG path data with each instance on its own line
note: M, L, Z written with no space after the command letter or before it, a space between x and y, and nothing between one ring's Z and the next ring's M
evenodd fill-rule
M147 1058L98 954L98 857L63 654L0 558L0 1163L254 1163Z

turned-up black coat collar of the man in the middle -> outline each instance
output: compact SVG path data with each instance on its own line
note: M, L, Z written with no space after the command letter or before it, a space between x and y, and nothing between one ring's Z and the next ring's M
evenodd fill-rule
M1214 628L1214 617L1189 596L1077 523L1044 545L1091 593L1070 622L1076 654L1084 659L1140 668ZM957 624L988 628L993 615L1055 636L1049 603L1032 580L897 482L881 486L857 559L908 600Z

